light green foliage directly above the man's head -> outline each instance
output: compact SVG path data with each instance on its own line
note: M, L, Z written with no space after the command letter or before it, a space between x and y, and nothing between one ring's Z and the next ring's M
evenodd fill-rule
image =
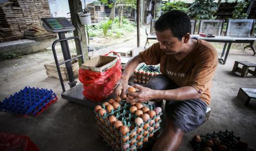
M167 2L161 5L161 9L164 13L173 9L183 11L186 14L189 13L188 5L181 1Z

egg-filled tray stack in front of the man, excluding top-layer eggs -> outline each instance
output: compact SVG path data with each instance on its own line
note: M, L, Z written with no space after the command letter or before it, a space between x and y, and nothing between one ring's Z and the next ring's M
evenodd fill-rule
M159 121L155 122L155 119L160 117L162 112L155 115L153 118L150 118L147 122L144 121L144 123L140 126L137 126L134 122L137 115L132 114L129 111L129 108L132 105L125 101L120 101L119 103L121 104L121 107L118 107L116 110L112 109L111 113L107 112L104 114L104 116L101 116L99 113L94 111L102 140L107 147L110 148L110 150L138 150L147 147L148 142L151 142L153 139L155 139L155 137L157 137L157 135L154 135L154 133L159 131L162 120L160 118ZM141 104L143 104L145 107L149 107L150 110L155 108L154 105L149 103ZM106 107L102 104L102 108L105 109ZM126 135L122 135L122 133L116 130L115 127L107 120L112 115L114 115L117 120L121 120L124 126L129 127L130 131L127 132ZM154 120L154 123L144 129L144 125L149 124L150 120ZM158 125L158 127L155 127L156 125ZM141 128L142 130L137 132ZM136 134L134 135L134 133ZM134 135L134 137L132 137L132 135Z

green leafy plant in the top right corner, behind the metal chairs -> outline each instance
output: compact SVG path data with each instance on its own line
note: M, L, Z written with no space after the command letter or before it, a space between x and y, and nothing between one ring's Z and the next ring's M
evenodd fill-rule
M242 1L236 4L235 9L233 10L233 19L246 19L247 14L246 14L246 8L249 3Z

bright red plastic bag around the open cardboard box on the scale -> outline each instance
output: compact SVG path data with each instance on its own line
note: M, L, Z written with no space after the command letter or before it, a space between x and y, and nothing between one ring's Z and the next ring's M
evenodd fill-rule
M110 53L115 52L111 51ZM105 56L107 56L108 54L106 54ZM79 80L81 83L84 84L83 95L94 102L100 102L102 100L105 100L108 96L112 94L113 88L115 87L116 83L121 79L121 75L122 66L120 57L116 62L116 65L108 69L106 72L95 72L80 68Z

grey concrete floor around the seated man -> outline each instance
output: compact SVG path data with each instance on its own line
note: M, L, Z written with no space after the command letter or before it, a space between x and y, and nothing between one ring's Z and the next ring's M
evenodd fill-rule
M144 33L141 33L141 38L144 37ZM145 39L141 40L141 45L144 42ZM136 37L108 50L131 44L135 46ZM220 52L219 50L219 55ZM226 129L235 132L249 146L256 148L256 101L250 101L249 106L245 107L237 98L239 88L256 88L256 78L241 78L231 73L235 60L256 63L256 56L252 54L248 50L231 50L226 65L219 64L211 88L210 118L198 129L184 136L179 150L193 150L189 140L194 135ZM60 52L58 56L61 56ZM52 61L51 51L1 61L0 100L24 86L52 89L59 99L45 112L28 118L0 112L0 131L27 135L40 150L108 150L100 140L92 109L62 99L59 80L47 77L43 64ZM68 88L67 82L65 84Z

